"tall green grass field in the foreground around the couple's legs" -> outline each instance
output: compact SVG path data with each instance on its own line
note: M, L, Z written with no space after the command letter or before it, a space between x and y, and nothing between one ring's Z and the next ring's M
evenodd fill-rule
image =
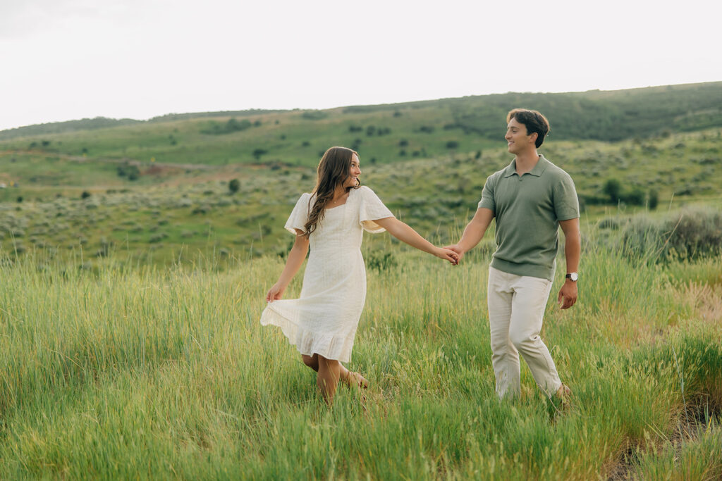
M453 267L378 239L367 257L396 265L369 270L349 363L371 386L332 409L258 323L275 255L222 272L112 256L78 270L32 252L0 265L0 477L722 476L720 257L630 263L586 242L578 304L545 316L574 392L560 411L526 366L521 398L495 397L488 251Z

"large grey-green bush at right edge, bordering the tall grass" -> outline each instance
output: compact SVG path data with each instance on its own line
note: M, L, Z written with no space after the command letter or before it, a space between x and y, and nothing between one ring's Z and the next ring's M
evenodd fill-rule
M687 208L661 219L640 215L622 231L627 255L653 262L722 254L722 211Z

